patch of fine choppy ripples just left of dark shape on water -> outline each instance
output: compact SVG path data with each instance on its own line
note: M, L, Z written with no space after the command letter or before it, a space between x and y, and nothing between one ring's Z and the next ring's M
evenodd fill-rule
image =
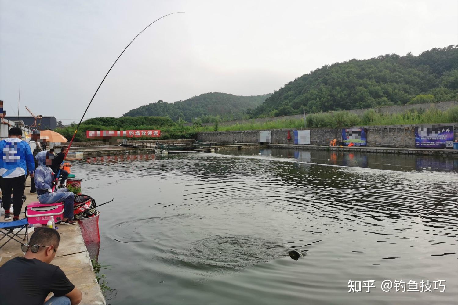
M176 258L224 268L246 268L283 257L284 246L249 235L215 235L194 242Z

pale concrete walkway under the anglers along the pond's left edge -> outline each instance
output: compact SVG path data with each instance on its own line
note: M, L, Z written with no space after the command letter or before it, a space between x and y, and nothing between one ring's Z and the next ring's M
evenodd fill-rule
M26 185L30 185L30 178L27 179ZM27 196L27 200L22 205L22 212L27 204L37 201L37 195L30 194L29 192L30 187L26 187L24 194ZM19 216L21 219L24 217L25 214ZM3 216L0 218L0 221L4 221ZM7 220L7 222L9 221L11 220ZM55 259L51 263L59 266L70 281L82 291L82 302L80 304L106 304L104 295L95 278L91 259L84 244L79 225L57 226L60 233L60 245L57 249ZM4 240L2 244L3 242ZM0 249L0 266L17 256L23 256L21 245L11 240Z

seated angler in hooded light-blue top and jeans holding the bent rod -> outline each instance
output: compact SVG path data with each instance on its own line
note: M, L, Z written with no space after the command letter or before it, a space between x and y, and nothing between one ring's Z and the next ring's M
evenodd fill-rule
M73 220L73 203L75 202L75 194L68 191L66 188L55 189L53 186L57 183L54 179L54 172L50 166L53 162L53 156L47 151L40 151L36 156L38 167L35 170L35 187L37 188L38 201L40 203L58 203L64 202L64 218L60 222L61 225L76 225ZM63 167L63 166L60 166Z

